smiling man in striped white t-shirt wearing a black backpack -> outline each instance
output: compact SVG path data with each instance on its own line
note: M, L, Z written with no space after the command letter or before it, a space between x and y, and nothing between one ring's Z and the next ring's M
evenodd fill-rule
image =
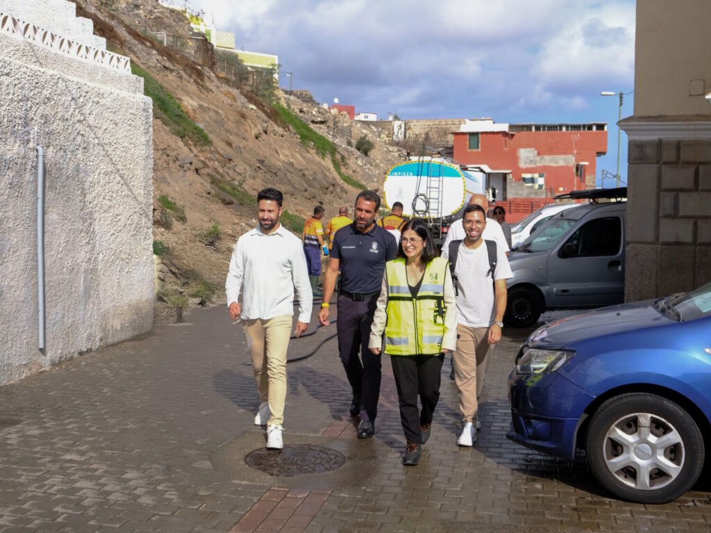
M471 446L476 440L477 398L481 394L488 356L493 345L501 340L506 280L513 277L506 252L498 243L496 267L491 271L488 245L482 238L488 224L486 211L481 206L466 206L462 218L466 235L459 243L454 263L457 342L452 357L463 423L461 436L456 441L460 446Z

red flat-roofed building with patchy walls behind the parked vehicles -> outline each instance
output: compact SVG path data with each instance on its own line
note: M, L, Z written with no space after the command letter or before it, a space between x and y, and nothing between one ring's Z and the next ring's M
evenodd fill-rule
M510 222L557 194L594 189L597 156L606 152L607 125L602 122L508 125L466 120L454 132L454 159L486 173L486 185L496 191L497 204L508 206Z

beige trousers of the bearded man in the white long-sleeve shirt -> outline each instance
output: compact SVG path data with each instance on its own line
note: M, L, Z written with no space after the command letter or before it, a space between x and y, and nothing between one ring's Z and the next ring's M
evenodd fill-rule
M287 401L287 349L292 334L292 316L242 320L242 329L252 354L260 403L268 402L272 412L267 425L282 424Z

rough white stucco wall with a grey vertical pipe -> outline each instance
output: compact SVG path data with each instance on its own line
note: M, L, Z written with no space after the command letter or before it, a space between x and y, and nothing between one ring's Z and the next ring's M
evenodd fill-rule
M142 81L0 33L0 384L152 327L152 107ZM47 167L45 353L38 144Z

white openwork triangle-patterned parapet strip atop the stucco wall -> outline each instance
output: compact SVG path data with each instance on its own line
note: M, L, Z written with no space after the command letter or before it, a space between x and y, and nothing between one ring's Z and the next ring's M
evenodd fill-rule
M0 12L0 32L15 35L38 46L46 46L67 56L95 63L106 68L131 73L131 60L117 53L87 46L58 36L33 23L21 21L14 16Z

